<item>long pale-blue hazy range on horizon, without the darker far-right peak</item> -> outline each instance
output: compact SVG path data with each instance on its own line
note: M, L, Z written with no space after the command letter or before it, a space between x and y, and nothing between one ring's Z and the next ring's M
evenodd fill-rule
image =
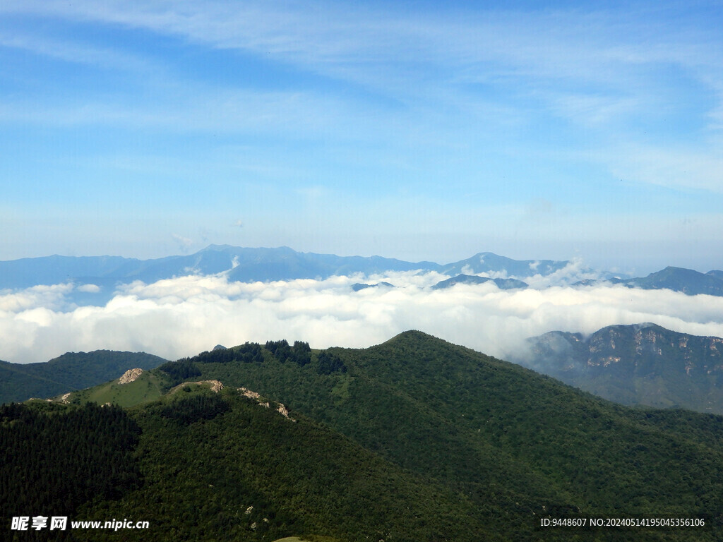
M380 256L336 256L297 252L288 246L278 248L241 248L229 245L210 245L194 254L158 259L134 259L117 256L69 257L48 256L0 262L0 288L30 288L73 282L76 285L95 285L83 292L92 302L103 291L120 283L156 280L184 275L213 275L228 272L229 280L241 282L328 278L333 275L362 273L372 275L388 271L438 271L447 275L506 272L508 275L529 276L535 272L547 275L565 267L569 262L552 260L518 261L491 252L477 254L461 262L444 266L435 262L405 262Z

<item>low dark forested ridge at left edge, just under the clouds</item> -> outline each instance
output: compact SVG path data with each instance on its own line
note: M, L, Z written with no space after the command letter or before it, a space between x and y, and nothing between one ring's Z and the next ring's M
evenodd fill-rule
M0 404L51 397L95 386L128 369L153 369L166 360L145 352L68 352L39 364L0 361Z

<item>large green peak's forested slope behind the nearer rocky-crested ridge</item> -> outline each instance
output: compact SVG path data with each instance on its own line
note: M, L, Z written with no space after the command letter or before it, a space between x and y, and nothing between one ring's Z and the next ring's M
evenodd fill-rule
M505 515L516 515L521 528L522 518L550 509L722 510L723 475L709 463L723 459L714 445L723 438L722 418L685 413L683 421L678 413L617 407L420 332L324 355L346 371L319 374L314 358L303 366L196 366L204 378L283 398L393 463L467 494L500 529ZM698 427L711 440L699 439ZM696 491L686 480L696 480Z

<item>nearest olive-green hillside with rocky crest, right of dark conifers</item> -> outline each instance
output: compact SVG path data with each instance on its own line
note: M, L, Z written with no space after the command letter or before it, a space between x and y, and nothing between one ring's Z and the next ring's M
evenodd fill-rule
M85 515L150 521L154 527L143 535L149 541L309 534L471 540L474 533L500 540L474 517L469 499L351 439L303 416L291 421L236 390L207 393L181 392L132 413L142 429L144 486L91 505Z

